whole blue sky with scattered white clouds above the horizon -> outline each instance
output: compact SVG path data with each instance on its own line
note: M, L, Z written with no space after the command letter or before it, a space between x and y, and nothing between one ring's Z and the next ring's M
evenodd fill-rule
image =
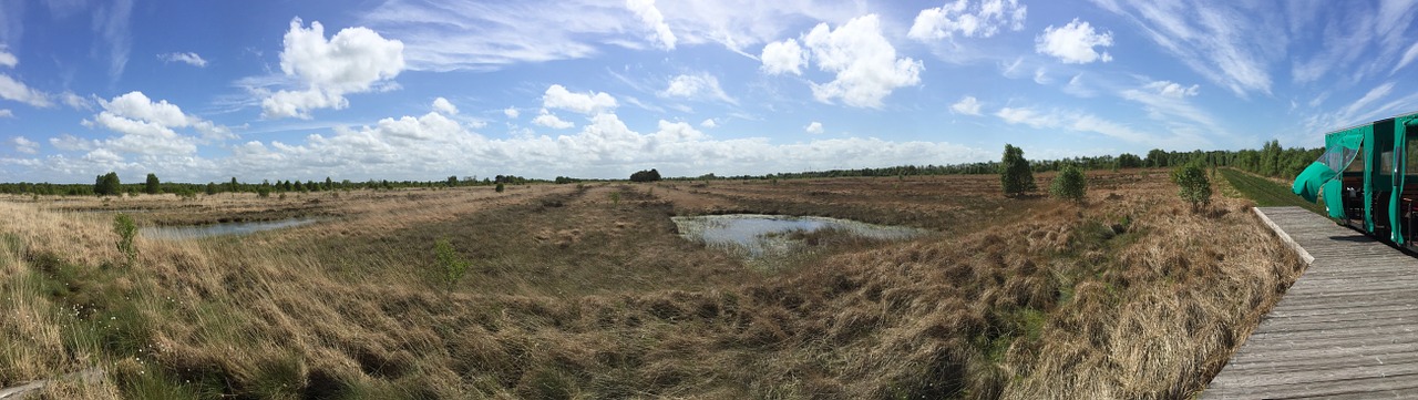
M0 182L624 179L1323 146L1415 1L0 0Z

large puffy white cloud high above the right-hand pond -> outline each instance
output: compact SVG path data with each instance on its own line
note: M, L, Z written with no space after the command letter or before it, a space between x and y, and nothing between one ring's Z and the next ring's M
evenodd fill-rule
M821 102L842 99L849 106L879 108L896 88L920 84L920 61L896 58L896 48L882 35L881 18L866 14L835 31L821 23L803 38L818 70L834 72L827 84L813 82L813 96Z

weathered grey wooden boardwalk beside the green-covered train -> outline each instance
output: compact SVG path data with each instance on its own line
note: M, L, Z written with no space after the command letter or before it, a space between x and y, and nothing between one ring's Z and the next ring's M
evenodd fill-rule
M1418 399L1418 258L1299 207L1256 214L1310 267L1202 399Z

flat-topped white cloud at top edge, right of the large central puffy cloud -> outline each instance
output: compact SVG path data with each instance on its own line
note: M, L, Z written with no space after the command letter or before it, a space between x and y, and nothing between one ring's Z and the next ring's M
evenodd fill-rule
M919 41L950 38L956 33L964 37L991 37L1001 27L1022 30L1028 11L1029 7L1020 6L1018 0L956 0L943 7L920 10L906 35Z

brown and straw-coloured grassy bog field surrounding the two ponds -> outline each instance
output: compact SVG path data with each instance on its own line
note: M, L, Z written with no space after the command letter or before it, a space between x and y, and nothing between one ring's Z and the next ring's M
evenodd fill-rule
M1039 176L1048 187L1052 174ZM0 387L55 399L1139 399L1201 390L1303 264L1164 170L0 201ZM337 193L337 196L336 196ZM140 226L320 217L248 237ZM753 268L671 216L930 228ZM471 261L442 279L434 244Z

